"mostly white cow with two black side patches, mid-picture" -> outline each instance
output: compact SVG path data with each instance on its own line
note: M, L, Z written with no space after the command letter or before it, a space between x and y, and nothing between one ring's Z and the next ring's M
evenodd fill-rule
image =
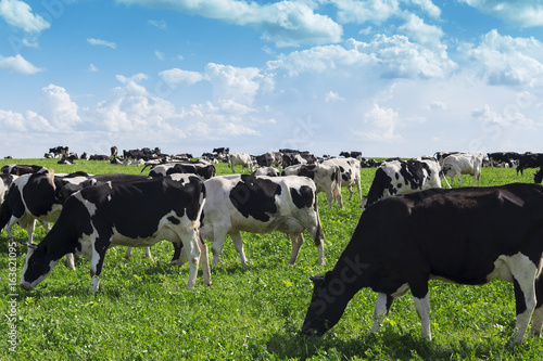
M325 263L324 233L318 216L315 183L305 177L253 177L231 175L205 181L206 202L201 234L213 242L213 266L217 266L226 235L229 234L247 267L240 231L290 235L296 260L307 230L318 249L318 263Z

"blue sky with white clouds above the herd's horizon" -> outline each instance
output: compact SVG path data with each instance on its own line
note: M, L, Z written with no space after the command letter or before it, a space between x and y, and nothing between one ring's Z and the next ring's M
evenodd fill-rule
M0 157L543 152L543 1L0 0Z

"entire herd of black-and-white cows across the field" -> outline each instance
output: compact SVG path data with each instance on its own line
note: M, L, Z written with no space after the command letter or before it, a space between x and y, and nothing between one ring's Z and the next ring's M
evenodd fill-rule
M67 149L61 151L68 156ZM160 154L159 149L153 152ZM212 284L205 241L212 244L213 267L227 235L242 267L248 266L241 232L287 234L293 265L305 231L317 248L318 265L325 265L326 224L320 222L318 193L326 194L329 208L334 202L343 207L341 189L349 190L349 201L356 189L362 206L358 225L333 269L312 278L304 334L323 335L339 322L353 296L370 287L378 293L371 332L379 330L394 298L411 291L422 335L431 338L429 280L480 285L502 279L514 283L514 341L521 343L532 314L531 334L540 335L543 325L543 188L462 188L466 173L473 176L471 185L479 185L487 156L491 165L520 171L543 165L527 160L538 159L536 154L514 158L508 153L438 152L433 157L391 158L375 163L365 196L361 167L372 163L359 152L317 158L294 150L251 156L216 149L204 156L206 160L148 158L143 169L151 168L149 176L54 173L13 165L0 175L0 231L5 228L11 240L15 223L27 229L28 253L20 283L24 289L43 281L64 256L74 268L73 255L80 254L90 259L90 289L96 293L110 247L127 246L129 253L162 240L174 244L172 263L189 263L190 289L200 263L204 284ZM125 151L125 159L132 157L138 154ZM213 163L219 159L229 163L232 175L216 175ZM452 189L455 178L460 188ZM449 189L441 189L442 180ZM33 240L36 221L48 231L38 244Z

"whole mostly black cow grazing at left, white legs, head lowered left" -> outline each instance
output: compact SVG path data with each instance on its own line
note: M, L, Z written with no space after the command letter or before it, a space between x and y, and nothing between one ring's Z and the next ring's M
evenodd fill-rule
M65 201L43 241L28 248L20 285L34 288L61 257L76 253L90 259L90 291L96 294L109 247L151 246L163 240L182 242L190 267L187 289L195 284L200 260L204 283L211 285L207 247L198 236L204 196L197 177L189 183L163 177L85 188Z

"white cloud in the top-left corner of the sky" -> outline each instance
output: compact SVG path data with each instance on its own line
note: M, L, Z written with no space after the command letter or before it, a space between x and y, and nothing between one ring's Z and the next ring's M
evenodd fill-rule
M26 33L40 33L51 26L40 15L33 14L26 2L18 0L0 0L0 17Z

